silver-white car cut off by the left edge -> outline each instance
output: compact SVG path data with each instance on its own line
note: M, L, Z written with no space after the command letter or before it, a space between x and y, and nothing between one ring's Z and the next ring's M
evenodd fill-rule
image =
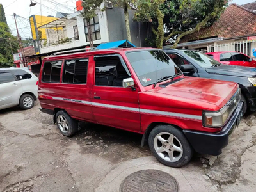
M0 68L0 110L33 108L37 92L38 78L28 68Z

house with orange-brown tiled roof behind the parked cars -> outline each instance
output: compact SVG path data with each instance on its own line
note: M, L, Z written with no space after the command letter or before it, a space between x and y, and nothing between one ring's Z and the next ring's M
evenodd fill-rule
M256 48L256 2L230 4L212 26L184 36L177 47L202 52L239 51L252 56Z

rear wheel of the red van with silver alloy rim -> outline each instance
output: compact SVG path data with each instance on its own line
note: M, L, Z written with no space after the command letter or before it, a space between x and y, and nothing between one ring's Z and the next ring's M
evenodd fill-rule
M61 134L71 137L76 134L78 130L78 122L71 118L67 112L58 111L56 113L56 124Z

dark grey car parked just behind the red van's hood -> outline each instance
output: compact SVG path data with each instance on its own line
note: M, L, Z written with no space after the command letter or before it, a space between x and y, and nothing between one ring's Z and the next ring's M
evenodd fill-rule
M184 76L234 81L241 88L241 100L246 111L256 110L256 69L222 65L202 52L189 49L165 49L164 52L178 65Z

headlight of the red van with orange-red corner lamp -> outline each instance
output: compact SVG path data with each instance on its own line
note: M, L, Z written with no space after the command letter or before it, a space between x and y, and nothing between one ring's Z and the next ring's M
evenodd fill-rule
M204 127L222 127L227 121L230 111L225 106L220 111L204 111Z

